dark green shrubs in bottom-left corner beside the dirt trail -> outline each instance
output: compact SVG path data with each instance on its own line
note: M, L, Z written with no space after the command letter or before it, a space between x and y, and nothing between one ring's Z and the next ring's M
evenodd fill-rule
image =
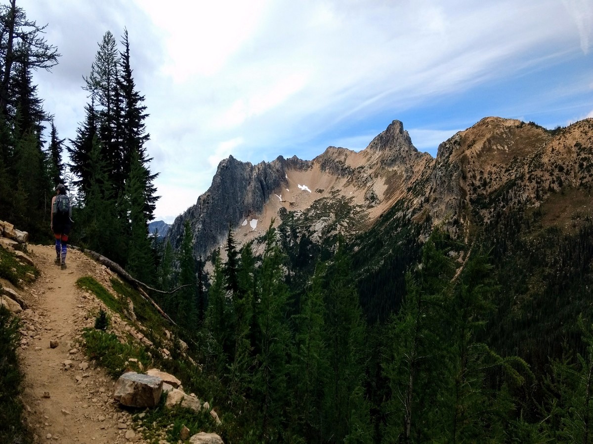
M20 401L23 382L17 355L20 328L20 320L0 306L0 442L33 442L23 423Z

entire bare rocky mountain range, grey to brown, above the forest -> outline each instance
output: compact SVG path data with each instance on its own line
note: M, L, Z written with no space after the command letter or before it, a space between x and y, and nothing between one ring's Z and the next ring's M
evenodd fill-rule
M467 236L472 224L509 205L538 207L559 191L589 189L592 139L591 119L548 131L487 117L441 143L433 159L394 120L358 153L328 147L314 160L278 157L257 165L231 156L196 205L177 217L170 239L178 246L189 221L196 257L205 258L229 227L244 243L290 215L299 237L323 242L368 229L396 204L406 208L406 220Z

